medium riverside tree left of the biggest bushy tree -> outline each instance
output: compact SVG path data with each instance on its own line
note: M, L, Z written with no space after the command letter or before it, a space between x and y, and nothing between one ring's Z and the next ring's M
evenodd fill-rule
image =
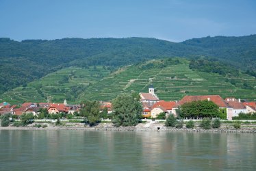
M99 101L86 101L82 106L80 115L86 118L85 121L90 124L90 126L101 121Z

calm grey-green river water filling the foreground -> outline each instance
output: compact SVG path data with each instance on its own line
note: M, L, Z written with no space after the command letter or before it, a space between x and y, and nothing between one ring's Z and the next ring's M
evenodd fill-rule
M254 170L256 135L0 131L0 170Z

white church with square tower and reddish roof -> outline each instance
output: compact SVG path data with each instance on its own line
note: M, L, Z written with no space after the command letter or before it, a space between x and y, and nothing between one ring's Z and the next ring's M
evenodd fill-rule
M159 98L155 94L155 89L153 88L153 86L149 87L149 93L140 92L140 101L142 103L148 103L149 106L152 106L159 101Z

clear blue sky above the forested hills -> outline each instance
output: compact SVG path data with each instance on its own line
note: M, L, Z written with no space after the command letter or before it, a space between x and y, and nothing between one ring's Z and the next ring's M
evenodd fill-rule
M0 37L18 41L251 34L254 0L0 0Z

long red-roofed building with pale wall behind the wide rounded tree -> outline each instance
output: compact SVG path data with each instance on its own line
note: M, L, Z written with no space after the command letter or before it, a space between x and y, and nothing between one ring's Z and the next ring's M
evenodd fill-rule
M190 103L192 101L212 101L215 103L219 109L222 109L222 113L227 113L227 119L232 120L232 107L226 103L226 101L219 95L204 95L204 96L184 96L178 105L183 105L184 103Z

